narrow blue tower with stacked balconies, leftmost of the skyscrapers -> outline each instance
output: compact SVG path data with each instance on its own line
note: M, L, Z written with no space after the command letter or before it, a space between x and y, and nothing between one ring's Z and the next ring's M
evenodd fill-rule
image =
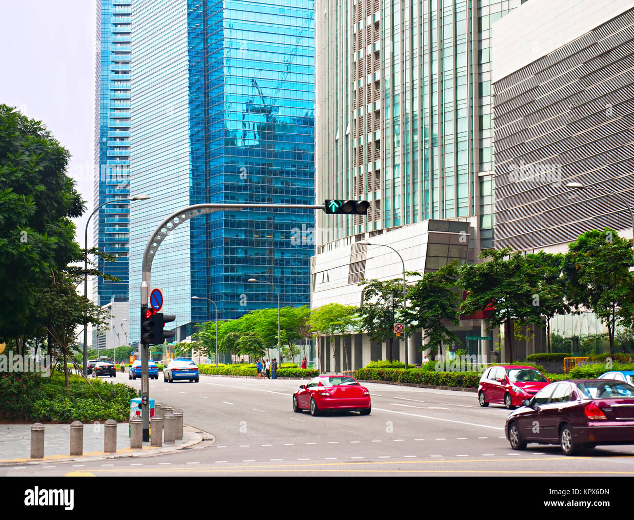
M93 244L118 257L100 270L120 282L94 280L99 305L128 295L131 0L96 3L96 96L94 206L107 204L93 217Z

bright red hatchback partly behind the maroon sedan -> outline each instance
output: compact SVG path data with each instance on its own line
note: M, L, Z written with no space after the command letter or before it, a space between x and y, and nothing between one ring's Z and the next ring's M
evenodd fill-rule
M496 365L482 373L477 387L477 398L480 406L500 403L508 410L513 410L521 406L522 401L532 398L549 382L533 367Z

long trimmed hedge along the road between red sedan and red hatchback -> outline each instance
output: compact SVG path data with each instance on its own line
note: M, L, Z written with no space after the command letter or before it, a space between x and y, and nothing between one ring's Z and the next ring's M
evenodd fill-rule
M409 370L360 368L354 372L354 377L364 380L475 388L479 384L481 374L478 372L436 372L436 370L424 368L410 368Z

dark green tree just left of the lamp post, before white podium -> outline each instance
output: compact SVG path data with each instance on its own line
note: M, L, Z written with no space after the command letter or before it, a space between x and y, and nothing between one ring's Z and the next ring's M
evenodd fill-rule
M363 305L359 307L359 327L365 330L372 341L389 341L389 359L392 361L394 344L394 323L397 323L403 310L403 279L371 280L362 282ZM406 323L403 325L407 326Z

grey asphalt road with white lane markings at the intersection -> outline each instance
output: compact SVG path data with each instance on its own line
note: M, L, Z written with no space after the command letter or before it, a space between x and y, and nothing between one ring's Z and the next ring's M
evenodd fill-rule
M140 380L120 382L133 387ZM209 433L195 448L129 459L0 468L6 476L633 476L634 446L565 457L557 446L510 449L507 410L481 408L475 393L367 384L372 413L294 413L305 381L201 376L150 380L150 398L184 410ZM603 484L608 484L605 481Z

